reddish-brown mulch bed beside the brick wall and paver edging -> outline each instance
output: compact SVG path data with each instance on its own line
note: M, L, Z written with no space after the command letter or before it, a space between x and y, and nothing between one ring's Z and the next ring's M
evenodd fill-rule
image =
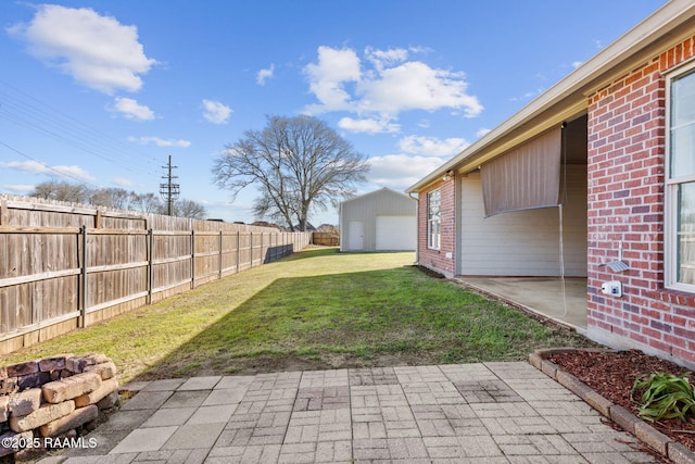
M670 373L680 375L688 369L639 350L601 352L576 350L555 353L547 361L572 374L586 386L609 400L637 414L639 407L630 399L634 379L641 374ZM691 381L695 378L691 375ZM660 432L695 451L695 417L690 423L665 419L650 425Z

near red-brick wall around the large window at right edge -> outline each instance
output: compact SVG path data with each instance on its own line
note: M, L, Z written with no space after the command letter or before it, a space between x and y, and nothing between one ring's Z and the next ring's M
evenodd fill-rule
M664 73L694 51L695 37L589 98L589 336L687 366L695 366L695 294L664 288ZM621 241L630 269L599 267L618 259ZM606 280L620 280L623 297L603 294Z

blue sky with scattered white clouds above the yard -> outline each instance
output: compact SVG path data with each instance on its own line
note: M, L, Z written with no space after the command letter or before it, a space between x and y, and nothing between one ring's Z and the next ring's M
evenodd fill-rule
M0 4L0 192L51 178L181 197L252 222L212 185L266 116L328 123L403 191L665 0L85 0ZM334 210L316 225L338 224Z

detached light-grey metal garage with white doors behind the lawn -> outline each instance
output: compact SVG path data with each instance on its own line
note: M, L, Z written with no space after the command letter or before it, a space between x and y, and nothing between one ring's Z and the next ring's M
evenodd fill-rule
M340 203L340 251L415 251L417 201L388 188Z

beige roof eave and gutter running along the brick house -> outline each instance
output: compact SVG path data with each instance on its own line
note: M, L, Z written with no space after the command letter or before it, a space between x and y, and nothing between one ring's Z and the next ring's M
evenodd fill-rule
M468 173L480 164L529 140L549 127L586 111L586 98L650 59L656 50L678 43L693 34L687 26L695 20L693 0L670 0L603 51L523 106L511 117L408 187L419 192L438 181L450 170Z

